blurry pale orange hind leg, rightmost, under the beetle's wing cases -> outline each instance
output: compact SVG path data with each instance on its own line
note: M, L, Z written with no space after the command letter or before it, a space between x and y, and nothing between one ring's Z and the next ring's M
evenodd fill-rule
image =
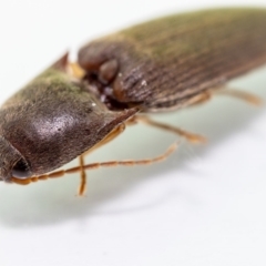
M260 105L263 103L260 98L252 93L239 91L236 89L231 89L231 88L221 88L221 89L224 89L224 90L214 90L212 93L217 95L233 96L253 105Z

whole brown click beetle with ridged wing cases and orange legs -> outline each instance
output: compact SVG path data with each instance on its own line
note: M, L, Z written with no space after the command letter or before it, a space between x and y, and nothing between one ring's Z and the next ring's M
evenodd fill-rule
M228 80L266 63L265 24L265 9L203 10L94 40L80 49L76 64L63 55L1 106L0 178L29 184L80 171L82 195L88 168L147 164L175 150L173 144L154 158L84 164L85 153L136 122L204 142L139 113L203 103ZM259 103L241 91L224 93ZM78 156L79 166L52 172Z

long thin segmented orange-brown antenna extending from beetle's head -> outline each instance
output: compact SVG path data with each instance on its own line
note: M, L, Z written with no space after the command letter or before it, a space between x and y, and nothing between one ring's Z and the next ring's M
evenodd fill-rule
M103 162L103 163L91 163L91 164L83 164L76 167L72 167L69 170L61 170L61 171L57 171L53 173L49 173L49 174L43 174L40 176L33 176L30 177L28 180L18 180L16 177L12 177L11 181L13 183L20 184L20 185L28 185L32 182L37 182L40 180L48 180L48 178L55 178L55 177L61 177L64 174L73 174L73 173L78 173L81 172L82 170L94 170L94 168L99 168L99 167L113 167L113 166L133 166L133 165L149 165L152 163L157 163L157 162L162 162L164 160L166 160L177 147L177 143L173 143L163 154L153 157L153 158L143 158L143 160L126 160L126 161L110 161L110 162ZM84 183L85 184L85 183ZM81 184L82 187L82 184ZM83 192L84 190L80 190L81 192Z

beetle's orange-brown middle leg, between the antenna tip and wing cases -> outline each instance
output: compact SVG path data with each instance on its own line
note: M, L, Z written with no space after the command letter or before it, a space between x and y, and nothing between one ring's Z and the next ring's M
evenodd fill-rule
M136 121L142 122L142 123L147 124L147 125L151 125L151 126L155 126L155 127L161 129L161 130L166 130L166 131L173 132L177 135L181 135L181 136L185 137L187 141L192 142L192 143L204 143L204 142L206 142L206 139L204 136L184 131L180 127L175 127L175 126L172 126L172 125L168 125L168 124L156 122L154 120L149 119L147 116L136 116Z

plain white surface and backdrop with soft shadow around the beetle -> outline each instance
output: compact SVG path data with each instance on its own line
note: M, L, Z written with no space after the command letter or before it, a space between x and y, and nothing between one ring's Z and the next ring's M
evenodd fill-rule
M85 41L213 2L1 0L0 101L66 50L74 60ZM233 84L266 100L266 69ZM79 175L27 187L0 184L0 265L265 265L265 106L221 96L157 119L208 143L182 143L152 166L92 171L81 198ZM135 126L88 160L151 157L175 139Z

